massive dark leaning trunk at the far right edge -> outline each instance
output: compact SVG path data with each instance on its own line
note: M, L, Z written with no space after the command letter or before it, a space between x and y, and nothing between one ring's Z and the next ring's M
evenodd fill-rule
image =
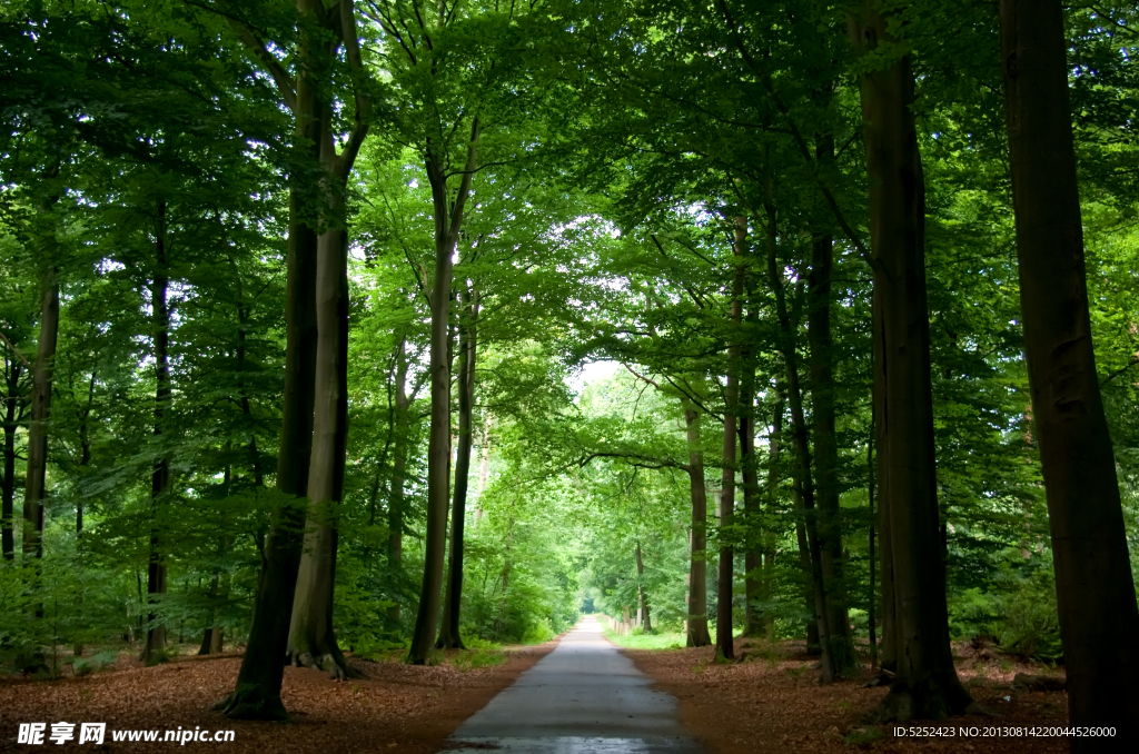
M1139 612L1096 374L1059 0L1002 0L1021 311L1073 726L1139 743ZM1100 744L1073 738L1073 752Z

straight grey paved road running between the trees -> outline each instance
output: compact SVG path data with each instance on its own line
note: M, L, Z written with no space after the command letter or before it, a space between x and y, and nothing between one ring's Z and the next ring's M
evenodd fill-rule
M677 699L585 616L558 646L451 735L467 754L700 754L678 721Z

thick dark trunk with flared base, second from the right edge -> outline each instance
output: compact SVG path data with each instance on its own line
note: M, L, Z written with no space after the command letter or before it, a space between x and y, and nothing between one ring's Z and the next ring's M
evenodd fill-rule
M867 0L858 44L894 43L890 18ZM949 648L934 465L929 314L925 280L925 180L913 125L910 56L862 74L880 391L880 509L893 564L896 677L878 720L940 719L972 703ZM885 571L883 573L885 579Z

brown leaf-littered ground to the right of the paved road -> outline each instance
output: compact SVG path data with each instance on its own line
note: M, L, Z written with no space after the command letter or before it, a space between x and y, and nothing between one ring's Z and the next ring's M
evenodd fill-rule
M885 687L866 688L860 679L828 686L817 682L816 657L803 655L802 642L736 641L743 662L716 665L712 648L624 649L657 688L680 703L680 721L703 740L708 754L763 752L1000 752L1000 754L1067 752L1060 737L1009 736L994 728L1064 726L1064 691L1013 689L1016 673L1058 675L1039 664L1025 664L967 642L954 645L961 682L993 716L967 715L915 727L952 728L953 737L902 738L893 726L867 726L861 718L886 695ZM961 735L961 728L976 728ZM988 729L988 730L986 730ZM972 732L972 731L970 731ZM1000 733L1000 735L994 735Z

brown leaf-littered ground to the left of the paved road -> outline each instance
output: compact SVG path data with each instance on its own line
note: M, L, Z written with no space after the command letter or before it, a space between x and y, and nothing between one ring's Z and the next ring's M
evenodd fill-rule
M508 647L505 661L472 667L469 655L449 653L444 664L410 666L387 662L351 662L364 680L334 682L321 671L285 669L281 698L289 723L228 720L210 706L233 689L239 654L177 658L155 667L121 659L114 670L58 680L0 679L0 749L3 752L75 751L171 752L173 743L115 743L113 730L232 730L232 743L186 744L183 751L289 752L341 754L393 752L429 754L472 714L549 654L557 640ZM485 656L485 655L484 655ZM103 746L64 745L48 739L51 724L104 722ZM22 722L46 722L44 745L17 743ZM179 747L181 748L181 747Z

